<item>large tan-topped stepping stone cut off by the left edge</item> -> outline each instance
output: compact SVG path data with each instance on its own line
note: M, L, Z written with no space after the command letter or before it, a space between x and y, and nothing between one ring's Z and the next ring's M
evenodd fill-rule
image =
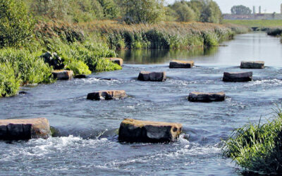
M46 118L0 120L1 140L47 139L50 135Z

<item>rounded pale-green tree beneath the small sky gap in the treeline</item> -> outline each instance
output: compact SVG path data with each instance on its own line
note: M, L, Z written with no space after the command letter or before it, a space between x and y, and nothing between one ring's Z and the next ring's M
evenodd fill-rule
M195 12L184 1L176 1L171 8L176 13L176 18L180 22L195 20Z

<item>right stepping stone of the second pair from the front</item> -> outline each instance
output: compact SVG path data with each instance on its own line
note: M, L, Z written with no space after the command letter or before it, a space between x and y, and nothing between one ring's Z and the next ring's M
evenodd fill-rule
M224 101L224 92L217 93L204 93L204 92L191 92L188 96L189 101L193 102L212 102L212 101Z

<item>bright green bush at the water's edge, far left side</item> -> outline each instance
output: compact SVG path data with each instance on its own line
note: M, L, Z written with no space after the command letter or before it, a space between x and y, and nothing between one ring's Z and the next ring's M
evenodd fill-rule
M20 80L15 76L10 63L0 63L0 96L17 94Z

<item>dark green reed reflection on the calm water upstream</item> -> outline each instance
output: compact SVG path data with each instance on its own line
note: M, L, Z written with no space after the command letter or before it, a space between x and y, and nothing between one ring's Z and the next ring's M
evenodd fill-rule
M123 50L118 51L118 57L124 59L125 63L130 64L152 64L166 63L172 59L187 60L195 56L211 56L216 54L218 47L195 48L190 50L169 50L169 49L151 49L151 50Z

